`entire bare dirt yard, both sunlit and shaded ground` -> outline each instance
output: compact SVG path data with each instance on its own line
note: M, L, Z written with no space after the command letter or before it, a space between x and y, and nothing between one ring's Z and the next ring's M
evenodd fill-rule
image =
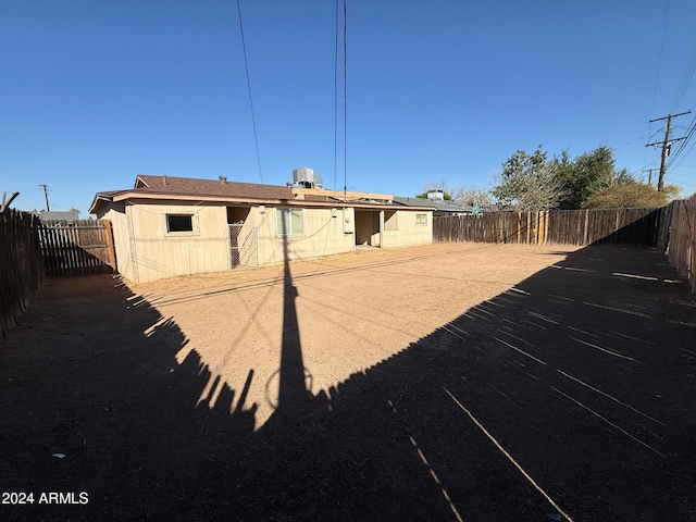
M695 334L618 247L51 279L0 343L0 519L696 520Z

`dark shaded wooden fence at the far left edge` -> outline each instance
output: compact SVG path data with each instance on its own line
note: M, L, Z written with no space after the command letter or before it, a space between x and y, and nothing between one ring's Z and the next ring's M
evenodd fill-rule
M0 339L17 322L45 278L36 215L0 213Z

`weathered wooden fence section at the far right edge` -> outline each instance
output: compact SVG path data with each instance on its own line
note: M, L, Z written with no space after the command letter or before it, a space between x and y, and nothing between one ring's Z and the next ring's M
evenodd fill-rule
M672 201L660 231L660 249L676 270L687 277L696 293L696 194L688 199Z

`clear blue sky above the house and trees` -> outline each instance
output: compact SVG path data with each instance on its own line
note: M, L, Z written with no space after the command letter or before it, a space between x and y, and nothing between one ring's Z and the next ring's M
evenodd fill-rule
M664 122L696 110L693 0L348 0L348 189L490 187L515 150L659 167ZM343 50L334 162L335 3L0 2L0 191L77 208L137 174L344 187ZM340 44L343 48L343 44ZM683 136L694 114L674 120ZM696 191L696 139L668 183ZM336 165L336 166L335 166Z

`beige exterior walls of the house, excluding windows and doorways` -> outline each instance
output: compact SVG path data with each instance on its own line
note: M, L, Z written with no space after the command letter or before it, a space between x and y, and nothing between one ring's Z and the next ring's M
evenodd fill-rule
M294 207L297 208L297 207ZM245 220L254 225L260 266L286 259L304 260L356 249L356 212L349 209L302 209L303 232L278 234L275 207L251 207ZM384 224L384 211L374 215L382 233L373 245L398 248L433 241L432 212L396 211L396 222ZM166 214L192 214L194 232L167 233ZM417 214L426 214L417 225ZM235 214L237 215L237 214ZM369 214L363 214L369 215ZM112 221L119 273L135 283L229 270L227 207L222 203L130 201L111 203L99 217ZM360 221L360 220L359 220Z

